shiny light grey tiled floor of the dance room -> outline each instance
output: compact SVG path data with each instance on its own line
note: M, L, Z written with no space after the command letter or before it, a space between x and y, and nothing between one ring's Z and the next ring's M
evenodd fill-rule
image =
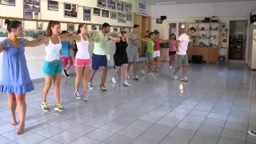
M89 102L74 98L74 78L63 78L62 113L42 113L43 82L35 83L36 90L26 97L23 135L10 126L2 95L0 143L256 144L246 134L256 128L256 74L246 66L190 65L190 82L180 83L170 79L169 66L162 63L160 73L129 80L130 87L121 80L113 85L112 72L107 92L98 90L100 73L96 75ZM48 102L53 108L53 90Z

